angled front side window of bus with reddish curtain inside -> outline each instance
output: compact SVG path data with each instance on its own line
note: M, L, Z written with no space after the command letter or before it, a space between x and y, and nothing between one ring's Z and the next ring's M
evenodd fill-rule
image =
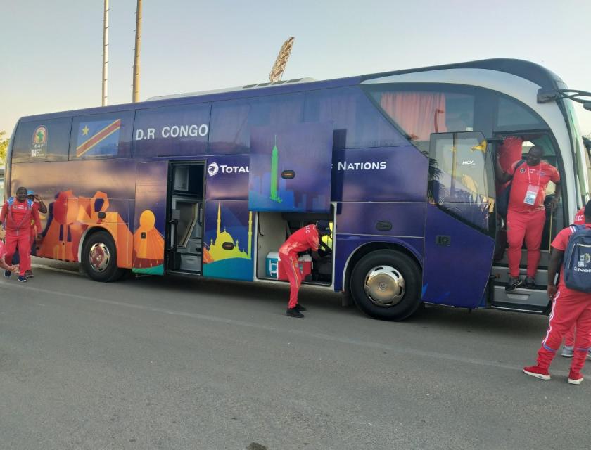
M428 150L431 133L474 129L474 95L379 86L371 96L421 150Z

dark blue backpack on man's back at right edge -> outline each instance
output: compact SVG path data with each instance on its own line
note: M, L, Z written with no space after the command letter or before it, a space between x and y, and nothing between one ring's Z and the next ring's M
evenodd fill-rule
M591 229L573 225L564 252L564 284L568 289L591 293Z

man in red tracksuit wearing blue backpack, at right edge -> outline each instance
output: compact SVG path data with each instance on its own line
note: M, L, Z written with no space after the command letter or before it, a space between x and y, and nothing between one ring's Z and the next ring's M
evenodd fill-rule
M585 226L591 228L591 200L585 205ZM578 385L583 381L580 371L585 365L591 347L591 294L569 289L561 271L558 288L555 276L568 247L568 239L575 232L573 226L562 230L552 241L552 255L548 264L548 297L553 299L552 313L546 337L538 350L538 364L523 368L523 372L540 380L549 380L548 368L556 356L562 338L576 326L573 361L568 373L568 383Z

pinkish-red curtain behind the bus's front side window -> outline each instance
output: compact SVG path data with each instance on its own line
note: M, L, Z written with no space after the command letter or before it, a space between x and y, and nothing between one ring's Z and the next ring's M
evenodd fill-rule
M444 133L445 94L439 92L389 92L380 105L415 141L428 141L431 133Z

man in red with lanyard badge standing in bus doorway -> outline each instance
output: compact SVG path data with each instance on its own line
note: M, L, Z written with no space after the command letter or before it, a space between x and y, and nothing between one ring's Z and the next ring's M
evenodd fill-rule
M507 210L507 242L509 243L509 281L505 290L511 292L523 281L519 277L521 245L526 240L528 248L528 268L526 288L535 288L535 272L540 262L540 244L546 220L544 198L549 181L556 184L554 198L548 207L554 211L560 201L560 175L556 167L542 161L544 149L540 146L530 148L526 164L522 161L511 165L511 173L504 172L497 158L497 181L512 181L509 208ZM521 163L521 164L520 164Z

